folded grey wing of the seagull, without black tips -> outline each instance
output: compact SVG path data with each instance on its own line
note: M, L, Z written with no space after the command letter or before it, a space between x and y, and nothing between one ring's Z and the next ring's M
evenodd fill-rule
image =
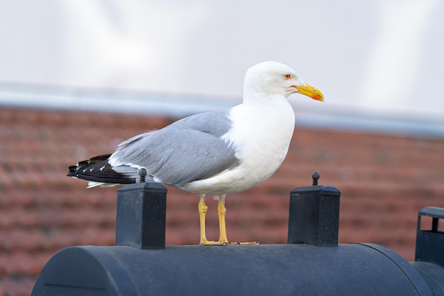
M147 170L157 182L180 186L203 180L239 164L235 147L220 136L229 125L211 128L214 114L190 116L174 124L135 136L125 141L111 155L111 165L137 165ZM216 115L218 116L218 115ZM204 130L204 131L202 131ZM223 131L225 130L225 131Z

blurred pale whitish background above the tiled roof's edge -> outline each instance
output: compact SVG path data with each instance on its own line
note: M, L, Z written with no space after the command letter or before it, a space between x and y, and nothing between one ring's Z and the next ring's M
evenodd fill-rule
M0 20L0 82L240 98L276 60L325 95L296 108L444 117L442 0L15 0Z

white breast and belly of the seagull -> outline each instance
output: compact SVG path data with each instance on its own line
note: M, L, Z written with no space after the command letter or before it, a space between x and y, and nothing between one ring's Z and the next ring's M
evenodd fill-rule
M240 165L206 180L190 182L181 189L199 194L242 192L273 175L292 140L294 111L283 96L263 101L240 104L230 111L233 127L222 138L235 147Z

